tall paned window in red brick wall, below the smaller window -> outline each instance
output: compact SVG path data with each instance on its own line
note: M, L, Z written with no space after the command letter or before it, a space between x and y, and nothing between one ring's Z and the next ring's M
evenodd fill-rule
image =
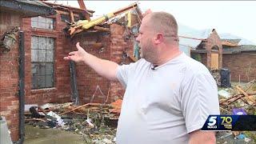
M32 36L32 89L54 86L54 38Z

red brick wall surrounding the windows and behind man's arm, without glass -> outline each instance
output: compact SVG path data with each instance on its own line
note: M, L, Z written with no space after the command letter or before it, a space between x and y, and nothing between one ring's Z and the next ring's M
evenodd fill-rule
M82 33L68 38L63 28L66 23L62 22L60 16L52 16L55 18L56 26L54 30L32 29L30 26L30 18L23 19L22 29L25 31L26 46L26 104L44 104L46 102L70 102L70 70L69 62L63 61L63 57L70 51L76 50L76 42L86 49L90 54L94 54L98 58L108 59L114 62L130 63L129 58L123 58L124 50L132 54L133 41L131 39L125 41L124 26L113 24L110 26L110 34L106 33ZM54 88L31 90L31 35L46 36L55 38L55 63L54 63ZM102 43L103 48L92 47L94 43ZM113 102L116 98L122 96L124 90L119 83L112 83L106 78L102 78L83 63L76 64L77 85L80 103L105 102L106 96L109 94L108 102ZM97 86L102 90L102 95ZM96 93L94 94L94 92ZM92 98L94 95L94 98Z

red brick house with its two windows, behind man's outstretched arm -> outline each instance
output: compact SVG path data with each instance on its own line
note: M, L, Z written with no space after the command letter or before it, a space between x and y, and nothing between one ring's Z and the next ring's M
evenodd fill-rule
M58 14L46 17L45 21L49 21L47 25L53 24L50 29L38 28L44 19L42 17L23 19L22 29L26 38L26 104L71 101L70 63L64 61L63 57L76 50L76 42L80 42L80 46L98 58L118 64L131 62L130 58L124 57L126 52L132 54L133 50L133 39L124 38L125 26L112 23L106 26L109 31L89 30L70 38L63 30L67 26L65 20L68 19L63 12L58 11ZM113 102L115 96L122 97L123 90L118 83L100 77L84 64L76 64L75 69L80 104L105 102L108 94L108 102Z

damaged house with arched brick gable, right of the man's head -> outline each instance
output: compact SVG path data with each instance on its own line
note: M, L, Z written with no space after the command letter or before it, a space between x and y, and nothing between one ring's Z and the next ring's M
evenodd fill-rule
M250 82L256 78L256 47L241 39L222 39L216 30L200 33L179 31L180 47L189 50L190 57L202 62L210 71L230 70L230 81Z

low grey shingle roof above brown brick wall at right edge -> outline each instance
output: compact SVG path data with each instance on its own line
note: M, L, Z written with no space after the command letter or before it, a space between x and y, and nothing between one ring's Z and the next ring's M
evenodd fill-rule
M241 45L236 47L223 47L223 54L239 54L241 52L256 52L255 45Z

